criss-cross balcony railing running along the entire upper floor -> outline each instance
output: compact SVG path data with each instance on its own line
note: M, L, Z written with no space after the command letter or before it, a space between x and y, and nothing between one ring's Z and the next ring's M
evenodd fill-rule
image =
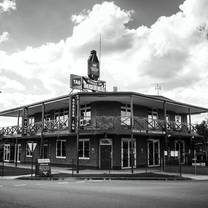
M178 132L178 133L196 133L195 125L189 125L187 123L176 123L173 121L164 120L150 120L148 118L134 117L134 125L132 129L136 132ZM166 126L165 126L166 125ZM30 124L27 127L27 135L35 135L43 131L43 133L53 133L57 131L68 130L68 119L66 120L51 120L45 121L44 126L42 122L36 122ZM80 130L130 130L131 129L131 119L130 117L120 117L120 116L96 116L93 118L81 117L80 118ZM10 126L0 128L0 135L3 136L15 136L22 134L22 127ZM25 130L25 129L24 129Z

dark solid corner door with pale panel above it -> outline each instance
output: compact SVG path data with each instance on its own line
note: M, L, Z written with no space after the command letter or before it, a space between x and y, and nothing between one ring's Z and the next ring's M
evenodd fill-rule
M112 167L112 140L100 140L100 168L103 170L111 169Z

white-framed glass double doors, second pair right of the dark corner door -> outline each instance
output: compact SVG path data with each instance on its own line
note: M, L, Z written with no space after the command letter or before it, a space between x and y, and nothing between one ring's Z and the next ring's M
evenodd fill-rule
M148 166L160 165L160 141L148 140Z

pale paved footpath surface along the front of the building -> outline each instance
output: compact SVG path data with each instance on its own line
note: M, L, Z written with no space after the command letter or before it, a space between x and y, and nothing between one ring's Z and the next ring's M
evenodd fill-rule
M5 166L9 167L15 167L13 163L6 163ZM31 169L30 164L18 164L18 168L26 168L26 169ZM35 169L35 166L33 167ZM155 173L157 175L169 175L169 176L179 176L179 173L177 172L163 172L160 169L153 169L153 168L136 168L133 171L133 174L131 173L131 169L123 169L123 170L92 170L92 169L81 169L79 170L79 173L76 173L76 170L72 171L70 167L57 167L57 166L52 166L51 167L51 172L52 175L67 175L67 177L75 176L75 177L90 177L90 176L116 176L118 175L119 177L129 177L129 176L137 176L137 174L142 174L142 173ZM29 175L24 175L24 176L29 176ZM3 176L1 178L8 178L8 179L16 179L19 177L24 177L24 176ZM65 176L66 177L66 176ZM208 175L194 175L194 174L189 174L189 173L182 173L182 177L184 178L190 178L192 180L208 180Z

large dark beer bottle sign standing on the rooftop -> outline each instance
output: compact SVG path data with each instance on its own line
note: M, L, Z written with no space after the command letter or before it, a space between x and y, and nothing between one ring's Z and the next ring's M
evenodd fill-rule
M88 59L88 77L95 81L100 77L100 64L95 50L91 51L91 55Z

